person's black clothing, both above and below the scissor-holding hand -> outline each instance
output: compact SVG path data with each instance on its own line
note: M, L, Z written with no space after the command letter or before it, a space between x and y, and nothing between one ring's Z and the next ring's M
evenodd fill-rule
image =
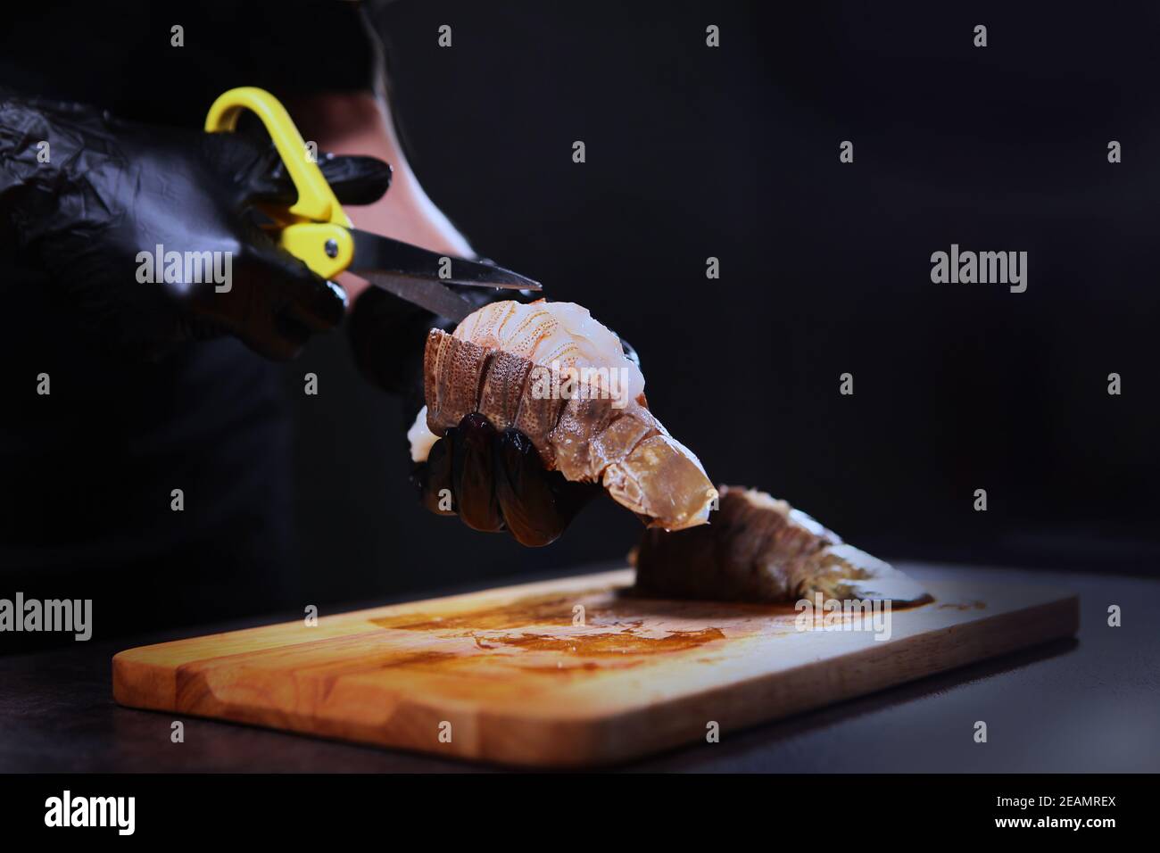
M0 30L3 86L154 124L200 128L234 86L289 97L365 89L370 75L346 2L34 3ZM278 366L233 339L155 362L102 347L6 227L0 598L92 598L97 636L297 607Z

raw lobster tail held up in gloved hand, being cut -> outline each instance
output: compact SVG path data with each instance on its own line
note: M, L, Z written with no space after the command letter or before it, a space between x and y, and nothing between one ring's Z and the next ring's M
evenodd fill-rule
M648 411L644 377L619 339L573 303L496 302L455 334L432 330L425 353L427 432L412 456L472 412L524 433L544 464L601 483L651 526L704 523L717 498L701 462Z

